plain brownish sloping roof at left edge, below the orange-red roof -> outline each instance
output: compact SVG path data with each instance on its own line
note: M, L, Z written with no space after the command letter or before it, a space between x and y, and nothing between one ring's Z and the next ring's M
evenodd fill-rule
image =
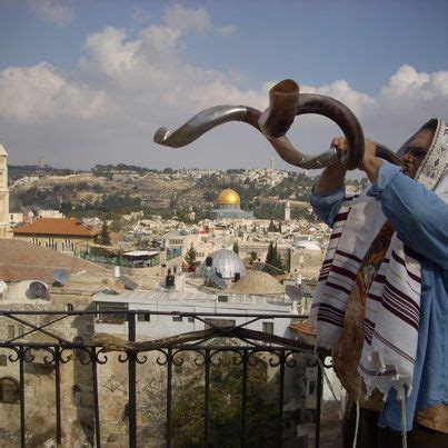
M52 283L56 269L63 269L69 275L87 271L100 276L110 272L102 266L52 249L13 238L0 238L0 280L16 282L36 279Z

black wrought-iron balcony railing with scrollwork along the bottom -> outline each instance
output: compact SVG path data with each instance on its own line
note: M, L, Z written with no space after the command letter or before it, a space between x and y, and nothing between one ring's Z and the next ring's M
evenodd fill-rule
M293 332L252 330L273 315L169 313L202 328L138 340L94 333L96 310L0 311L0 434L8 446L336 447L340 405L323 399L325 356ZM7 323L8 322L8 323Z

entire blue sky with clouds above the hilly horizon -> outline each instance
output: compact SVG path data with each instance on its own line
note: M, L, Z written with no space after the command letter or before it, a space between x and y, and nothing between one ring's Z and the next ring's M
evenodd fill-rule
M448 119L447 17L442 0L2 0L0 142L11 165L228 169L273 156L295 169L239 122L180 149L152 141L212 106L263 110L291 78L398 148L429 118ZM317 153L340 133L306 116L288 137Z

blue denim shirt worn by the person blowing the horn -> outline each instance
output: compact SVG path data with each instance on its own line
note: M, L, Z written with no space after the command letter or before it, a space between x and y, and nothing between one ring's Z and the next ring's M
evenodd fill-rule
M385 216L406 246L418 252L421 263L421 301L412 391L406 399L407 430L415 414L435 405L448 405L448 205L387 161L368 196L381 202ZM330 227L345 189L329 195L311 193L315 213ZM401 404L391 389L379 425L401 428Z

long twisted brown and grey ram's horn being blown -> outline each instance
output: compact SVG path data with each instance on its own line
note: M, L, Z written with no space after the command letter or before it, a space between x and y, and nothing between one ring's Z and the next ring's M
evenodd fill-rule
M340 158L348 169L359 166L364 157L364 133L355 115L341 102L322 94L300 93L299 86L287 79L269 91L269 108L265 112L247 106L217 106L199 112L176 130L159 128L155 142L171 148L191 143L210 129L229 122L243 121L258 129L288 163L305 169L323 168L339 160L333 148L317 156L307 156L296 149L285 136L296 116L318 113L335 121L348 141L349 150ZM392 151L377 145L377 155L397 163Z

